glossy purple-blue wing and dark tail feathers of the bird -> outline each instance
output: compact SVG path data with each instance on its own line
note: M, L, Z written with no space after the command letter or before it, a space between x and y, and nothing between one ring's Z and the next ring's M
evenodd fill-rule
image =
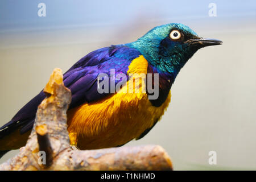
M97 77L100 73L110 76L110 69L115 69L115 74L127 73L132 60L141 53L136 49L126 46L111 46L90 52L64 73L64 85L71 89L72 101L69 109L104 98L108 93L97 92ZM118 81L115 81L117 84ZM0 128L0 138L10 134L16 129L20 133L32 129L38 105L46 96L40 92L15 114L10 122ZM2 130L2 131L1 131Z

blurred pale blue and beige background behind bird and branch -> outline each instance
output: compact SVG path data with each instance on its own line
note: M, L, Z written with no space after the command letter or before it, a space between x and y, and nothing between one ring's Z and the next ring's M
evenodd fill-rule
M45 3L46 16L38 16ZM216 16L209 16L210 3ZM0 1L0 124L34 97L54 68L95 49L183 23L222 46L200 49L181 69L162 120L141 140L159 144L175 170L256 169L256 2ZM217 164L208 163L216 151ZM5 155L5 162L18 151Z

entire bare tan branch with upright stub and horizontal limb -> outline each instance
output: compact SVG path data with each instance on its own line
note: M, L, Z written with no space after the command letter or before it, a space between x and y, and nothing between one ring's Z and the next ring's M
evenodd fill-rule
M34 127L18 155L0 165L0 170L171 170L167 152L160 146L72 150L67 131L71 92L56 68L44 88L47 98L39 105ZM40 156L44 151L46 156ZM46 158L46 164L41 163Z

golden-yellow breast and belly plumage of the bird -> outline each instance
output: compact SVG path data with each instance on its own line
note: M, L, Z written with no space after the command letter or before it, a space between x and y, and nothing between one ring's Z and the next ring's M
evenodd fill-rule
M147 60L143 56L134 59L127 73L147 73ZM160 106L152 106L145 88L144 80L139 81L139 88L133 86L129 92L127 81L118 93L90 104L84 104L68 111L68 131L71 144L80 149L115 147L138 138L144 130L160 119L171 101L171 92ZM139 90L138 90L139 89Z

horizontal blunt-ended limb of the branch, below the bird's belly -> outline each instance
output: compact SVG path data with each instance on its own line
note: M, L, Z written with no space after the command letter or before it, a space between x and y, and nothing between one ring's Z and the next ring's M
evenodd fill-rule
M171 170L172 163L161 146L106 148L101 150L65 150L60 154L63 170Z

